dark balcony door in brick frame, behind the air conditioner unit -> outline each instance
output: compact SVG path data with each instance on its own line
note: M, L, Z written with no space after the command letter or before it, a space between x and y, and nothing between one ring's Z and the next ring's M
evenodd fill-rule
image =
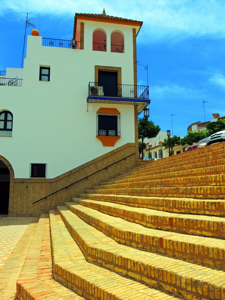
M98 71L98 86L103 87L104 96L117 97L117 73Z

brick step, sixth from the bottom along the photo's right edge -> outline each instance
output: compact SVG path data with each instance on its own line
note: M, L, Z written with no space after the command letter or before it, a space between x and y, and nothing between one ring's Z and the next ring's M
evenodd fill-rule
M98 189L105 188L135 188L135 187L194 187L194 186L224 186L225 175L206 175L177 177L168 179L155 179L149 176L148 180L139 180L138 178L130 178L128 182L120 182L119 180L106 184L98 185ZM95 187L92 187L95 188Z

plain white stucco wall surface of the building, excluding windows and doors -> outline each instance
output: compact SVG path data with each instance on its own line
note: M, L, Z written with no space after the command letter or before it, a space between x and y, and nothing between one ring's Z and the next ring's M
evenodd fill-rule
M12 165L15 178L29 178L30 163L46 163L47 178L54 178L134 143L133 105L89 104L87 112L86 103L95 65L122 67L122 84L134 84L132 28L123 29L125 53L98 52L92 51L96 22L86 23L84 50L41 46L41 36L28 36L23 86L0 88L0 111L13 113L12 137L0 137L0 155ZM113 26L105 25L107 35ZM39 81L40 66L50 66L50 82ZM104 147L96 138L100 107L121 113L121 138L114 147Z

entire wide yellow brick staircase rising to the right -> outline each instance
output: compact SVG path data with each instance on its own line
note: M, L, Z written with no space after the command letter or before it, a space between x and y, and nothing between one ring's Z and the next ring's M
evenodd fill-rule
M225 300L224 161L225 143L151 161L42 215L17 297Z

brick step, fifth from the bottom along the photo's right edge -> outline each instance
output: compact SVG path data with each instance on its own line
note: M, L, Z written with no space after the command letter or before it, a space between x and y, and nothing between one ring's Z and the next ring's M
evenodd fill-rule
M90 190L86 191L90 193ZM173 197L173 198L196 198L196 199L225 199L224 186L218 187L135 187L135 188L94 188L91 193L118 194L130 196Z

